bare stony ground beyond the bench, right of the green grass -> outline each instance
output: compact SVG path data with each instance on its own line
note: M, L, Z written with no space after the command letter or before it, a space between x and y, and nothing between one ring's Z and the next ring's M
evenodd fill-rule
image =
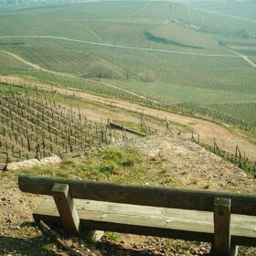
M224 161L200 145L177 136L153 136L125 143L152 159L165 160L165 176L176 179L176 187L255 194L252 176Z

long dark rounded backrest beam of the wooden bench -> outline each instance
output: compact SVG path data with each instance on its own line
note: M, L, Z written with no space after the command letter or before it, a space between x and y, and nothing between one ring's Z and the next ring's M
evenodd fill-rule
M69 185L73 198L115 202L162 208L183 208L213 211L214 198L230 198L231 213L256 216L256 196L165 187L140 187L111 183L70 180L45 176L20 175L21 191L52 196L55 183Z

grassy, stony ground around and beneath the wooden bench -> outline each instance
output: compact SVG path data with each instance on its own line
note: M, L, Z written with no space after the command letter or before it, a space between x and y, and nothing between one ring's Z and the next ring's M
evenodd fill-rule
M161 155L159 157L159 155ZM113 161L118 157L118 162ZM130 163L124 165L123 163ZM81 159L66 159L59 166L24 170L27 174L63 176L83 180L125 182L144 186L190 187L253 193L250 176L189 141L175 136L153 136L133 142L113 144L100 152L91 151ZM43 236L31 218L42 197L19 192L19 172L1 174L0 253L16 255L68 255ZM157 178L155 178L157 177ZM24 211L26 208L26 211ZM199 242L165 240L153 237L107 232L100 242L62 240L83 255L202 255L209 245ZM251 248L240 248L240 256L255 255Z

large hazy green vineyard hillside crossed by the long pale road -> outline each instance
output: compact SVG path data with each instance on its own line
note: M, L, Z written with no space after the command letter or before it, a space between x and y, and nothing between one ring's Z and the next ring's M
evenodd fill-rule
M44 69L98 79L219 89L240 84L246 76L252 86L250 64L195 30L185 15L195 20L194 12L165 2L27 8L0 17L0 48ZM23 44L14 46L17 42Z

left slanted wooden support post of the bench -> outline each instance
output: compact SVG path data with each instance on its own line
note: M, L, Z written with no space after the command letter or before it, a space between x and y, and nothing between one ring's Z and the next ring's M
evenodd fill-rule
M69 195L69 185L55 183L51 191L63 228L68 234L77 235L80 229L80 219L73 198Z

